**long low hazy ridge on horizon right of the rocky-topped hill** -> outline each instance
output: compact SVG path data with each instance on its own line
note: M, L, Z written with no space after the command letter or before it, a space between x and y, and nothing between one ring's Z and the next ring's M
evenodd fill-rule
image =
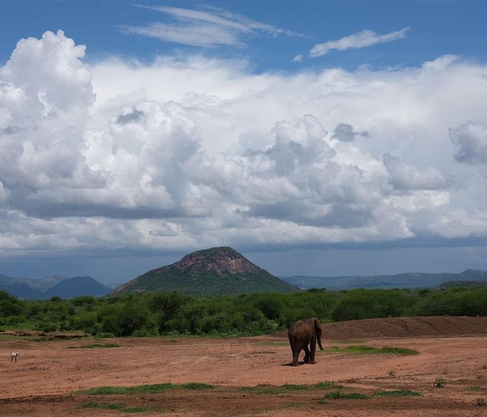
M424 274L411 272L396 275L374 276L280 276L283 281L299 288L326 288L327 290L353 290L355 288L434 288L448 281L487 281L487 271L465 269L455 274ZM458 286L458 285L457 285Z

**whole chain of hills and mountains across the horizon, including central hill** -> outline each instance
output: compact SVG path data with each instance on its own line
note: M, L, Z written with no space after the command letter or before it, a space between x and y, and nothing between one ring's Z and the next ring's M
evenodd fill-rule
M90 276L54 275L42 279L0 274L0 290L22 299L70 299L80 295L179 290L188 294L246 294L249 292L291 292L310 288L353 290L356 288L473 288L487 286L487 271L466 269L455 274L405 273L374 276L282 276L269 274L229 247L196 251L178 262L152 269L133 280L106 284Z

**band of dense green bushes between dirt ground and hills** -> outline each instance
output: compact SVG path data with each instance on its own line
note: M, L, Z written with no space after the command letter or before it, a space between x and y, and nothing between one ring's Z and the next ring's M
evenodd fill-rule
M428 315L487 316L487 288L306 290L197 297L181 292L24 301L0 291L0 329L82 331L97 336L244 336L322 322Z

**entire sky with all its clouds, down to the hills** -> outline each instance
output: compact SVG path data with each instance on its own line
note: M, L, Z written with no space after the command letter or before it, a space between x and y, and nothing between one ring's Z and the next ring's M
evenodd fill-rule
M487 269L484 0L0 2L0 274Z

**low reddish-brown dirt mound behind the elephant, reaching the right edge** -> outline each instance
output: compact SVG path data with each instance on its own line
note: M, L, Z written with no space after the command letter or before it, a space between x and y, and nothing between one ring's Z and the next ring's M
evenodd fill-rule
M322 339L411 338L487 334L487 317L388 317L322 324ZM287 332L273 335L287 338Z

